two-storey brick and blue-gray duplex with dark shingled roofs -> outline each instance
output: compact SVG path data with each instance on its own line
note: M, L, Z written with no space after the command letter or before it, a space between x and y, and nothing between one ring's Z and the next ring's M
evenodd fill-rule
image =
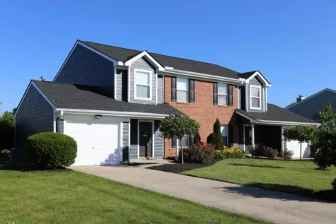
M28 136L57 131L78 143L74 165L170 158L180 143L163 139L160 121L187 114L206 141L216 118L226 146L288 148L282 130L317 125L267 104L271 84L259 71L238 73L192 61L78 40L54 81L30 81L16 111L16 150ZM183 146L194 143L186 136Z

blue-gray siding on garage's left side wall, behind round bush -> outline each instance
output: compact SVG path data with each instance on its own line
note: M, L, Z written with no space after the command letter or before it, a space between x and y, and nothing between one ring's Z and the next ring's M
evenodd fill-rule
M54 131L54 109L32 85L16 113L16 148L25 148L29 136L46 131Z

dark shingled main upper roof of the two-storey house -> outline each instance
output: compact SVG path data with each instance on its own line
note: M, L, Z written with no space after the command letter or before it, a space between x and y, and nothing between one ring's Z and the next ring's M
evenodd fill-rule
M88 42L79 40L85 45L92 47L93 49L98 50L99 52L107 55L108 57L112 57L117 61L127 61L137 54L143 52L134 49L127 49L122 47L115 47L110 45L102 45L95 42ZM156 59L159 64L163 67L173 67L174 69L183 70L183 71L192 71L197 73L205 73L213 76L221 76L226 78L236 78L238 79L238 71L233 71L231 69L224 68L223 66L219 66L217 64L211 64L202 61L193 61L190 59L183 59L179 57L171 57L163 54L156 54L149 52L151 57Z

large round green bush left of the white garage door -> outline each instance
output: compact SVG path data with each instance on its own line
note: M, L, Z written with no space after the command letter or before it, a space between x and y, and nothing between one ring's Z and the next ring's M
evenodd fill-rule
M27 139L27 159L42 168L55 169L75 163L77 143L61 133L43 132Z

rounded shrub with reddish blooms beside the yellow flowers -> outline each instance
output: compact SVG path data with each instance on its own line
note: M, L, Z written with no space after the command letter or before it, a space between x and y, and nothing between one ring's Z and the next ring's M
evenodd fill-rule
M199 141L190 148L183 149L183 156L187 163L210 163L214 158L214 146Z

